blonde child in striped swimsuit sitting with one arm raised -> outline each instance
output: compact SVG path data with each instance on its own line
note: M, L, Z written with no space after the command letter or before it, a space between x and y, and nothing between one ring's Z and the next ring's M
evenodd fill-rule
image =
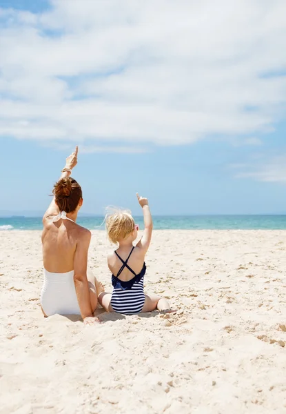
M136 246L133 246L137 238L139 226L128 211L116 211L106 218L108 237L114 244L119 244L117 250L108 255L108 267L112 272L113 291L101 293L99 303L107 312L132 315L141 312L159 311L172 312L167 299L158 295L144 294L144 276L146 265L145 255L150 246L152 237L152 216L147 198L137 199L143 209L144 233Z

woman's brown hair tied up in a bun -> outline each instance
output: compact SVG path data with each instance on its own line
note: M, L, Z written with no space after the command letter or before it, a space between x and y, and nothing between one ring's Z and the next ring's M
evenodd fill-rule
M65 213L72 213L79 205L79 201L83 198L81 186L72 177L61 178L54 184L52 193L54 194L59 209L65 211Z

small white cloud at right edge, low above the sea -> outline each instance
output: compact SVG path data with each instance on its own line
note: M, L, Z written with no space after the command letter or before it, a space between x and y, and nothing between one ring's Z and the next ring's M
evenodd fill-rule
M241 170L236 178L256 181L286 183L286 155L266 157L261 155L247 164L236 164L232 168Z

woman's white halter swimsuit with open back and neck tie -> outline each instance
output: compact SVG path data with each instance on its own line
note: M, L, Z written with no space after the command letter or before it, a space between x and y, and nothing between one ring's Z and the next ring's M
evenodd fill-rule
M53 221L67 219L65 211L54 217ZM74 221L73 221L74 222ZM74 287L74 270L67 273L51 273L43 270L44 281L41 291L41 306L45 315L81 315Z

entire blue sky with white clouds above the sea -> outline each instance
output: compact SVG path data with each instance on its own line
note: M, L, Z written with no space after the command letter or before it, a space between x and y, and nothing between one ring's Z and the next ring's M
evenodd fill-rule
M0 0L0 213L286 212L284 0Z

